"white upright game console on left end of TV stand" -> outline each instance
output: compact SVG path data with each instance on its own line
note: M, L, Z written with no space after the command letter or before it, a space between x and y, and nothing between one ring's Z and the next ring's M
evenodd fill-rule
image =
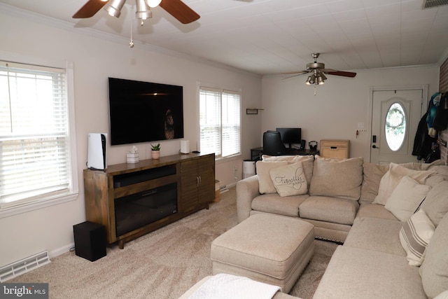
M87 168L104 170L107 168L106 133L89 133L87 139Z

